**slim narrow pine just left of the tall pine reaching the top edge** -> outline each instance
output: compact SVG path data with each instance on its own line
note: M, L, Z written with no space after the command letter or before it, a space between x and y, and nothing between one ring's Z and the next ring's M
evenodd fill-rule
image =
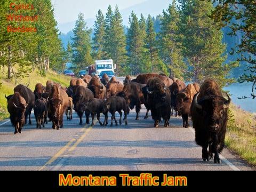
M156 33L154 29L154 22L150 15L148 15L147 19L147 36L146 36L146 48L147 55L150 57L151 63L151 72L154 72L154 68L156 65L156 60L158 57L157 46L156 46Z

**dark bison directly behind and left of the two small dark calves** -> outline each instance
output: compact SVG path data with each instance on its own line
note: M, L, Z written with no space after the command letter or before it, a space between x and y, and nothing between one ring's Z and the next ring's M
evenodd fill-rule
M91 100L93 98L94 98L94 95L91 90L87 89L84 86L77 87L76 92L73 96L73 103L74 103L74 109L75 109L78 117L80 118L79 125L83 124L82 117L84 114L84 109L83 109L82 103L88 102L89 100ZM85 111L85 116L86 116L86 124L89 124L90 123L90 119L89 119L90 111L89 110Z

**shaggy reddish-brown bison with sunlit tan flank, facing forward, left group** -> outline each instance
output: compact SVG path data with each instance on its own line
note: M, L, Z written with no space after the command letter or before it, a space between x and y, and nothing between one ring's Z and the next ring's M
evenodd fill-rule
M63 114L68 108L68 95L58 85L53 85L48 98L48 116L52 121L52 129L63 128Z

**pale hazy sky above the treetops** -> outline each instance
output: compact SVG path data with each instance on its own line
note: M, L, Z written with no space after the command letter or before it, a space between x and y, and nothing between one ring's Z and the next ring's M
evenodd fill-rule
M115 7L117 4L119 10L145 2L147 0L51 0L55 18L58 23L71 22L77 19L79 12L84 13L85 19L94 18L98 10L103 13L107 12L107 7L110 4ZM161 0L160 0L161 1Z

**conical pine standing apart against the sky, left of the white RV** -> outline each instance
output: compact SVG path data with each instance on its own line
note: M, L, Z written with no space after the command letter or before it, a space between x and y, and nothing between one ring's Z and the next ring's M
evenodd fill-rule
M73 63L75 63L75 71L84 69L93 63L91 57L91 30L86 26L84 14L79 13L76 20L75 28L73 29L74 38L71 38L73 43Z

